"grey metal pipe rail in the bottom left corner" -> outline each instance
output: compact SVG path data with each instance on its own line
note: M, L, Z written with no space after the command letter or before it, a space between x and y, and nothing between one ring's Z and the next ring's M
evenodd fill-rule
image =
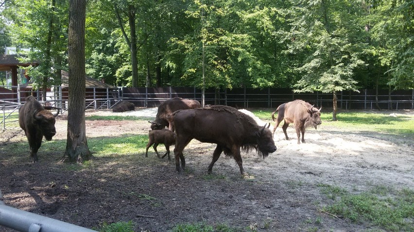
M0 225L20 232L96 232L0 204Z

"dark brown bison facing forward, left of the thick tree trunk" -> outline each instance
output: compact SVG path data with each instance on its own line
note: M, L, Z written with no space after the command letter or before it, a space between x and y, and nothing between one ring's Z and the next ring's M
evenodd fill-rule
M19 108L18 124L24 130L29 141L30 157L33 162L38 161L37 150L42 144L43 136L50 141L56 134L54 118L59 114L59 108L56 108L57 113L54 115L45 108L52 109L54 107L42 107L33 96L28 96L26 103Z

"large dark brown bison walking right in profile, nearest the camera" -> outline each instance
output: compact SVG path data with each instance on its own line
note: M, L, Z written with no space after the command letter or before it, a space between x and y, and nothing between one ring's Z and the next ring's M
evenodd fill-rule
M181 172L180 159L182 169L185 169L183 150L191 139L217 144L208 173L211 173L222 152L226 156L232 156L239 165L240 172L245 174L240 149L256 150L263 157L276 151L275 141L268 129L270 124L261 127L252 117L232 107L217 105L179 110L173 113L173 122L177 137L174 148L175 168L178 172Z

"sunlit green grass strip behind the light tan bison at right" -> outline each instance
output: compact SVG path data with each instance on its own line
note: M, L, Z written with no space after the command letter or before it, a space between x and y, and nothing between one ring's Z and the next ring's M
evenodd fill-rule
M272 112L273 109L267 108L253 109L253 113L265 122L272 121ZM396 135L412 136L414 133L414 116L412 115L390 117L387 113L341 111L337 114L337 121L332 121L332 112L322 111L321 120L321 128L328 125L350 128L352 130L385 132Z

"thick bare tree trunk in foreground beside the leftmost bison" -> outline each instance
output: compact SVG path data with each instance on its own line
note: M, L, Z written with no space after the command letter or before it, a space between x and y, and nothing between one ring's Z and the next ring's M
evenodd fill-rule
M70 0L68 137L62 162L82 163L92 156L87 146L85 125L85 18L86 0Z

